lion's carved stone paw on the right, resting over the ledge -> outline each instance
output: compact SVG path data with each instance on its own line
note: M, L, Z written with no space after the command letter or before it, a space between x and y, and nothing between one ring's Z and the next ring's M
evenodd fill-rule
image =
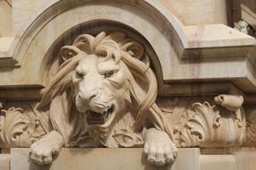
M144 153L149 164L164 166L172 164L177 157L177 149L165 132L150 130L146 134Z

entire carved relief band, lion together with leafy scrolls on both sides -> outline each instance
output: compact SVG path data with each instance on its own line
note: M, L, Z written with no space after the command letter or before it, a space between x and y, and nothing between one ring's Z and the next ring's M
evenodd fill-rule
M149 57L124 33L83 34L61 56L37 106L2 109L1 147L31 147L31 158L43 165L63 147L144 146L148 162L163 166L174 162L176 146L231 147L256 139L255 114L244 113L241 96L220 95L179 113L178 106L170 112L158 106Z

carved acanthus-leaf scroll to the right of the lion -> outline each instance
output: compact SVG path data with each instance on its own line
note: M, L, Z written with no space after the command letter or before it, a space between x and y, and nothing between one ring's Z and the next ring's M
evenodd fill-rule
M195 103L187 110L186 123L176 133L180 133L177 144L181 147L229 147L242 144L245 119L243 97L221 95L216 104Z

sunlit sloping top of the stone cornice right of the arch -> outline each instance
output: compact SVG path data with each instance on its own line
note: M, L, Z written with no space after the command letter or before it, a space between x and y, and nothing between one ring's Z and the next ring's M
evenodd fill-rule
M256 43L255 38L224 24L187 26L185 30L189 48L246 47L253 46ZM229 55L232 55L232 53L229 53Z

